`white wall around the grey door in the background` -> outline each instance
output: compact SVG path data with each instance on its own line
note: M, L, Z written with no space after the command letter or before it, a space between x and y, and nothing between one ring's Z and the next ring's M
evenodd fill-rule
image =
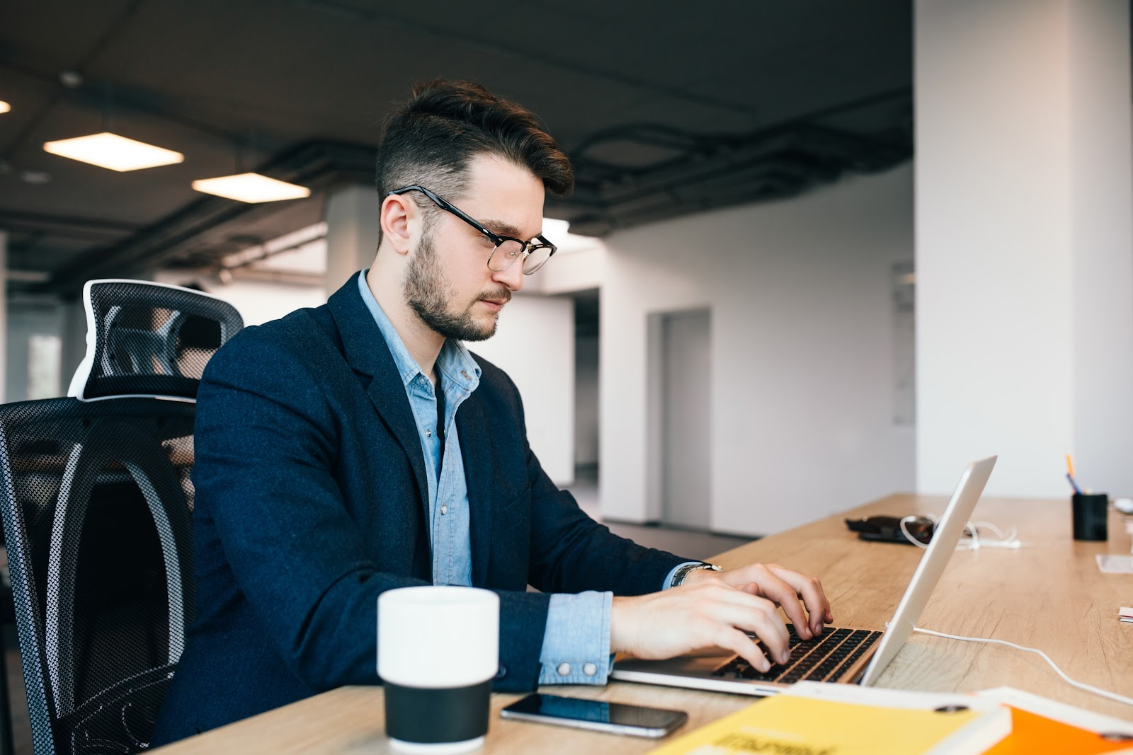
M713 318L712 527L770 533L914 482L893 422L892 266L913 256L912 169L606 240L602 512L647 496L647 318Z

